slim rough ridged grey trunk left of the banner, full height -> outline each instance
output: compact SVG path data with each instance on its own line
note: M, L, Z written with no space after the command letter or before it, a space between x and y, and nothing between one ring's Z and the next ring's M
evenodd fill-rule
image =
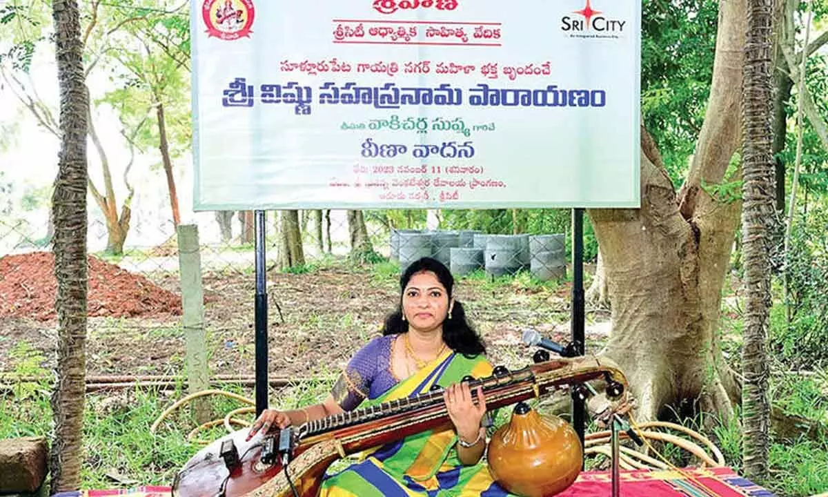
M78 4L52 3L60 84L59 170L52 196L58 316L57 384L51 404L51 494L80 489L84 460L86 377L86 134L89 100L84 85Z

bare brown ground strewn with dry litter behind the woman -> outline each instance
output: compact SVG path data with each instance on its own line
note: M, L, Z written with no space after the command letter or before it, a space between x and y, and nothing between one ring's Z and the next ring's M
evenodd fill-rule
M178 292L174 275L147 275ZM253 374L252 274L210 273L204 278L209 368L213 374ZM323 268L312 273L268 276L268 344L272 377L296 378L341 369L359 346L377 335L383 317L397 302L395 275L370 268ZM483 335L495 364L521 367L533 350L521 344L524 328L535 327L561 343L569 338L570 284L558 287L493 284L461 279L455 296ZM608 316L588 314L588 321ZM588 322L589 326L589 322ZM20 344L39 350L42 367L54 366L56 323L6 317L0 321L0 372L20 371ZM98 374L181 374L185 341L181 316L89 318L87 372ZM597 352L603 332L587 337ZM36 354L36 352L33 352ZM31 355L30 353L29 355Z

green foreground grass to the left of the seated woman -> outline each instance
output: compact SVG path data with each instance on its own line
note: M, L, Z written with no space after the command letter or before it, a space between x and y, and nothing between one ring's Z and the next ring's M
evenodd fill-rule
M0 438L47 437L52 435L50 387L43 382L26 395L0 396ZM271 393L272 408L296 408L319 402L330 391L332 376L326 374L302 384L291 385ZM247 398L253 394L245 388L224 389ZM196 426L187 408L173 413L156 433L152 423L171 403L184 397L179 389L162 392L135 388L115 393L87 395L84 417L83 488L117 488L129 485L171 485L176 471L200 449L186 436ZM232 398L209 397L217 417L243 407ZM248 415L248 421L252 415ZM199 432L200 439L214 440L225 434L224 428ZM114 478L113 478L114 476ZM122 481L118 481L123 477ZM132 483L130 483L132 482Z

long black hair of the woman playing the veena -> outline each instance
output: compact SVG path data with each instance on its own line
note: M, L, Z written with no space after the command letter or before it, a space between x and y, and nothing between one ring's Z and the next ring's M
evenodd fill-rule
M417 259L406 268L400 277L400 302L397 304L397 310L386 316L383 335L394 335L408 331L408 323L402 321L402 292L405 292L408 281L411 280L412 276L423 271L435 273L437 279L445 287L445 291L448 292L449 299L451 299L455 278L451 276L449 269L434 258ZM469 321L466 321L463 305L456 299L455 305L451 308L450 319L443 321L443 341L451 350L463 355L479 355L486 352L483 340L480 339L477 331L474 331L474 328L469 325Z

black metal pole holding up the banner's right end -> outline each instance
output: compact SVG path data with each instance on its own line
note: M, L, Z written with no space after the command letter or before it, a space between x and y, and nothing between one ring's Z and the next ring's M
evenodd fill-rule
M578 355L584 355L584 210L572 210L572 314L570 331ZM572 426L584 446L586 409L584 401L572 398Z

